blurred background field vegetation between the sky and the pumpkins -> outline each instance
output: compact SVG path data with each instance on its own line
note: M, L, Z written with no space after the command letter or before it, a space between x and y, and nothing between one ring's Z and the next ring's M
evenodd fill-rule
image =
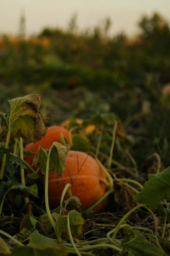
M135 138L139 164L157 152L165 166L170 155L170 26L159 14L139 18L138 35L110 35L110 18L79 31L77 14L68 29L46 27L26 37L22 14L18 36L0 36L0 106L8 99L40 94L47 125L71 116L90 118L115 112Z

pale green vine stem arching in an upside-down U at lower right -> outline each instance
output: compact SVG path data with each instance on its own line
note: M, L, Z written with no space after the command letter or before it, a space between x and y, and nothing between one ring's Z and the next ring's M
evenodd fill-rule
M158 235L158 232L157 232L157 223L156 223L155 214L154 214L146 205L138 205L138 206L136 206L135 208L133 208L131 211L129 211L128 213L126 213L126 214L123 216L123 218L120 220L120 222L119 222L118 225L116 226L115 231L114 231L114 233L113 233L113 236L112 236L112 239L113 239L113 240L115 239L115 237L116 237L116 235L117 235L117 232L118 232L118 230L120 229L120 226L122 225L122 223L125 221L125 219L128 218L131 213L133 213L134 211L136 211L136 210L137 210L138 208L140 208L140 207L146 208L146 209L152 214L152 216L153 216L153 218L154 218L154 223L155 223L155 231L156 231L156 234Z

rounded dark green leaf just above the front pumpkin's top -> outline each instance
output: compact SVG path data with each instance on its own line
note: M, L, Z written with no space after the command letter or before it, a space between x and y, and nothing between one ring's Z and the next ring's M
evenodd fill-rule
M75 134L72 137L72 147L71 150L89 152L91 148L91 143L87 137L84 135Z

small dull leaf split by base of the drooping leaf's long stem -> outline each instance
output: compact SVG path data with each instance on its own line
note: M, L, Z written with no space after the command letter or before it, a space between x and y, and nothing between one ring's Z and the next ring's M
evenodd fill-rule
M51 216L53 218L53 221L55 222L58 214L57 213L51 213ZM43 227L43 230L46 232L46 234L50 234L51 230L53 229L49 217L47 214L43 214L39 216L38 221L40 222L41 226Z

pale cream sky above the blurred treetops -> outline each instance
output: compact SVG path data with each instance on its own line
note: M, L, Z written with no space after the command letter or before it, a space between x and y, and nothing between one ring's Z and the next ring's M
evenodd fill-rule
M0 34L17 34L19 17L25 10L27 35L45 26L66 28L70 17L78 13L80 29L92 28L106 17L112 33L132 35L142 14L160 12L170 23L170 0L0 0Z

